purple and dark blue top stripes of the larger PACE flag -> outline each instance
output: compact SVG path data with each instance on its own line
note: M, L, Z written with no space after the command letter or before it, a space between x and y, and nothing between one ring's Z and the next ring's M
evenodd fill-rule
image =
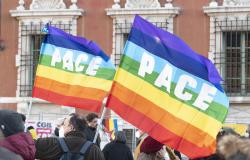
M146 34L141 34L146 33ZM148 36L147 33L150 33ZM145 49L153 51L157 56L167 59L175 66L193 73L211 83L217 84L222 78L214 65L206 57L195 53L184 41L164 30L155 30L150 22L135 20L131 29L130 41L143 45ZM154 43L155 38L161 43ZM152 43L150 43L152 41ZM164 54L165 52L168 54ZM185 58L186 63L178 63Z

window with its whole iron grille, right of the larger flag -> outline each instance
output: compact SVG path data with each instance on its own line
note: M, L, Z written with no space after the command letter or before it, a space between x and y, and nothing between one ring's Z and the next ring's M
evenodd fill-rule
M231 97L249 96L250 27L248 27L248 19L225 19L217 22L215 27L215 31L220 32L216 39L215 64L224 79L225 92Z

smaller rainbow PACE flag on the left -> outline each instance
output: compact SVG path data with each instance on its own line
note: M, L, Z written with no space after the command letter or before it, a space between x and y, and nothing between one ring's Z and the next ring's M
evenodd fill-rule
M92 41L47 26L33 97L99 112L110 91L115 66Z

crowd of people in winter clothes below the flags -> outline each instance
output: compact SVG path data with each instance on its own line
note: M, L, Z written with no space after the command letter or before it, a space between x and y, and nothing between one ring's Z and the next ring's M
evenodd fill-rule
M181 160L181 153L156 141L147 134L138 139L132 153L123 131L100 149L100 136L95 134L98 115L86 117L70 114L57 125L54 134L38 138L33 127L25 129L23 114L0 110L0 160ZM250 139L230 128L217 136L217 152L198 160L250 160Z

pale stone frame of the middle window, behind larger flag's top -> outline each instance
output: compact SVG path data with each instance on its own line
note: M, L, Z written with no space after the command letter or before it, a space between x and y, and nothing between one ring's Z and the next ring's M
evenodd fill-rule
M114 0L114 5L112 8L107 8L106 13L113 20L111 60L116 62L115 54L119 54L117 52L123 50L121 42L124 42L124 35L117 30L117 24L132 24L134 16L138 14L152 23L166 23L167 30L173 33L174 17L180 13L180 8L174 7L172 0L169 0L163 7L160 6L158 0L146 2L138 0L137 3L127 0L124 8L121 8L119 0ZM124 34L128 34L129 30L128 28L124 29Z

